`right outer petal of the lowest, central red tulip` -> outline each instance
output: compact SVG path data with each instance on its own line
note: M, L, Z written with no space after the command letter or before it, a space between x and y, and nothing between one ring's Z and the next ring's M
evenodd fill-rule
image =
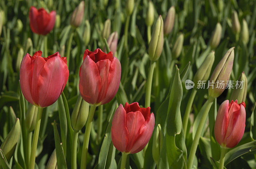
M140 134L132 145L130 153L140 152L147 144L152 136L155 126L155 116L153 113L150 114L148 119L140 127Z

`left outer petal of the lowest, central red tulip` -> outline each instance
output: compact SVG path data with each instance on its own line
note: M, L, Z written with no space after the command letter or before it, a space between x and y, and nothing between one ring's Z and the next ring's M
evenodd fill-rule
M123 105L120 104L116 109L111 126L112 142L118 151L125 151L128 137L129 133L126 128L126 112Z

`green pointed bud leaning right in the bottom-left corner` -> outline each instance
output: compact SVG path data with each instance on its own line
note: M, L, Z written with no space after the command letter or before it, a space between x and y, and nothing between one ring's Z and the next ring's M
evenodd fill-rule
M20 120L16 119L12 130L4 139L4 142L0 146L0 149L4 152L5 158L9 161L14 153L18 140L20 138Z

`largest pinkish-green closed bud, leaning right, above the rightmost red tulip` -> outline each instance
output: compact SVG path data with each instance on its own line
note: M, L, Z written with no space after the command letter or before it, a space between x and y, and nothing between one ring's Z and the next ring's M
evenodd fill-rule
M227 86L227 81L229 80L233 67L234 48L235 47L232 47L227 51L227 53L223 56L223 58L212 72L212 76L209 81L208 92L209 96L213 98L219 97Z

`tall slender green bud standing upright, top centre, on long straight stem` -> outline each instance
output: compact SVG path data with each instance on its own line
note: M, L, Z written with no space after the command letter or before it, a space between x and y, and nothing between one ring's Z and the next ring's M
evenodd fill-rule
M159 59L164 46L164 21L160 15L153 28L152 37L148 46L148 55L151 61Z

